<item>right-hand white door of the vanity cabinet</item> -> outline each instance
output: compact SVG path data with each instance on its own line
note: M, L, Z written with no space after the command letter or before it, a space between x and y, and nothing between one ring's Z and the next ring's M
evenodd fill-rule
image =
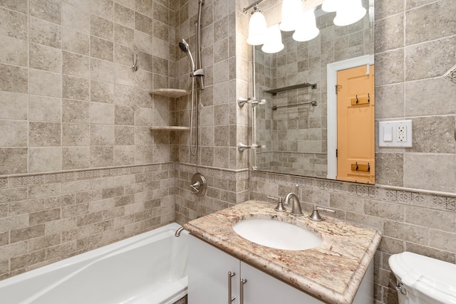
M322 304L310 295L241 262L244 284L244 304Z

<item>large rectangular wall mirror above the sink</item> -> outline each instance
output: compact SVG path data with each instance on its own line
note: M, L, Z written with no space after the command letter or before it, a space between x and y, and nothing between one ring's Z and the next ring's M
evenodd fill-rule
M254 170L343 179L338 175L336 158L337 72L361 65L367 72L373 65L373 0L363 0L363 6L368 11L366 16L348 26L334 25L336 13L326 13L318 6L320 33L316 38L298 42L291 37L293 32L282 31L285 48L279 53L264 53L261 46L253 47L254 96L267 101L252 108L252 142L260 147L253 153ZM264 15L271 26L267 10ZM373 83L373 72L371 78ZM304 85L294 87L299 84ZM373 120L373 91L356 95L359 100L367 100L369 95ZM371 125L363 138L374 144L373 121ZM372 184L374 162L353 161L356 170L366 170L361 174L371 174L371 179L343 180Z

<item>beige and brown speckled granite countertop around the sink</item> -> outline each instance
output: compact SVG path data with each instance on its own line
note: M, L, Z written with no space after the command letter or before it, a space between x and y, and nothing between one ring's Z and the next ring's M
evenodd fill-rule
M274 211L276 204L245 201L230 208L189 221L184 228L227 253L271 276L285 281L328 303L352 303L364 273L380 243L380 233L371 227L351 224L321 214L291 216ZM244 219L286 221L314 231L322 243L304 251L269 248L239 236L232 225Z

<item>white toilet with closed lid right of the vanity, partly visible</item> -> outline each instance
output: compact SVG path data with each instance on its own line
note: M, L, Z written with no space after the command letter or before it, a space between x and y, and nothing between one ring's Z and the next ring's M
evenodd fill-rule
M388 263L399 304L456 304L456 264L411 252L393 254Z

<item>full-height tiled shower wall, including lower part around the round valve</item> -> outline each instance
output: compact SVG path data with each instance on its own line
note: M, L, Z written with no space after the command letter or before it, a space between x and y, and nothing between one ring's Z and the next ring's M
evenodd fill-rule
M196 56L195 22L198 1L182 1L177 16L176 40L184 38ZM199 102L199 147L192 155L188 132L180 136L176 164L176 221L218 211L248 199L248 155L238 142L249 143L249 109L239 108L239 96L249 97L250 48L246 39L248 1L212 0L202 6L202 68L205 88ZM177 85L190 88L190 65L185 53L177 54ZM190 125L190 97L176 103L177 125ZM190 191L192 175L207 179L206 196Z

